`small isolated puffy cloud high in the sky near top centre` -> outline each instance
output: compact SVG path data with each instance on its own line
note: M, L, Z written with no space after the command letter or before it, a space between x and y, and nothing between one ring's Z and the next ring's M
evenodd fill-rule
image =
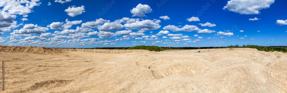
M141 3L138 4L135 8L131 10L131 13L133 14L132 17L138 16L138 17L145 17L145 13L152 12L152 9L148 5L142 5Z

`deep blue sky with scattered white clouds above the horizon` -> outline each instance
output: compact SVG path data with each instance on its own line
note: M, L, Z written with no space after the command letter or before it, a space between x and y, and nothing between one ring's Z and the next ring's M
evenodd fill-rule
M0 45L287 46L284 0L0 0Z

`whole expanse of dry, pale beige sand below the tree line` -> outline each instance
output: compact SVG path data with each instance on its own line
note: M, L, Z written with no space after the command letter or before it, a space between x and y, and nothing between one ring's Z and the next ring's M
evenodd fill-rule
M201 51L199 53L196 53ZM287 53L0 46L1 92L287 92Z

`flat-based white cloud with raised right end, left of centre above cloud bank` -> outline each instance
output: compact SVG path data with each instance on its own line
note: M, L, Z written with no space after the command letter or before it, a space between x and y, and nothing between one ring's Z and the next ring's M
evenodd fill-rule
M69 29L70 27L72 27L72 25L82 23L82 20L69 21L68 19L66 19L65 22L66 22L65 24L64 22L53 22L50 25L47 25L47 27L50 27L50 29Z

